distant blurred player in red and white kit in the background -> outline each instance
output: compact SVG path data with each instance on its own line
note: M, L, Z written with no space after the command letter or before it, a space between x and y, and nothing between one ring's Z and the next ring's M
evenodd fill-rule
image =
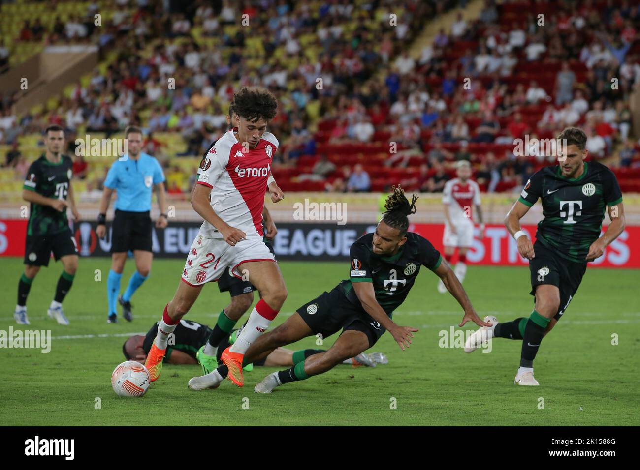
M476 207L478 221L480 223L480 239L483 237L484 224L482 210L480 208L480 188L477 183L470 180L471 164L461 160L456 164L456 175L447 181L442 190L442 203L444 204L444 259L447 263L458 248L458 263L454 272L460 283L465 280L467 274L467 250L474 241L474 223L472 218L472 206ZM442 281L438 281L438 292L447 292Z

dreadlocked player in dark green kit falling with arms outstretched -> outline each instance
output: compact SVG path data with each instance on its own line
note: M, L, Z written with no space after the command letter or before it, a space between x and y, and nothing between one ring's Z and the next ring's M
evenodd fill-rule
M401 349L409 347L413 333L418 330L399 326L391 317L406 299L420 266L433 270L463 307L465 315L460 326L469 320L488 325L477 316L460 281L449 265L442 262L440 253L428 240L407 232L407 215L415 212L416 200L414 195L410 203L401 187L394 186L394 194L385 203L387 212L375 233L367 233L351 245L349 279L301 306L284 324L260 336L247 350L244 361L252 363L278 347L307 336L328 338L342 329L329 350L309 356L288 370L268 375L255 391L270 393L276 386L326 372L344 359L371 348L386 330ZM189 387L217 388L226 376L227 367L223 364L209 374L193 377Z

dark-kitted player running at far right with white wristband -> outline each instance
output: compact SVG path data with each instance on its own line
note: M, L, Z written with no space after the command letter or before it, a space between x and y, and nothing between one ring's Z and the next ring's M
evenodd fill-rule
M514 380L518 385L538 385L533 361L542 338L569 306L587 263L602 256L605 247L625 228L625 209L616 176L603 164L584 161L588 155L586 134L577 127L568 127L558 139L566 139L566 155L559 154L560 164L534 173L505 218L520 255L529 260L534 310L529 318L505 323L485 317L492 326L479 329L465 343L465 352L472 352L491 338L522 340L520 368ZM520 228L520 219L538 199L542 200L544 218L538 223L536 243L532 244ZM605 208L611 224L601 237Z

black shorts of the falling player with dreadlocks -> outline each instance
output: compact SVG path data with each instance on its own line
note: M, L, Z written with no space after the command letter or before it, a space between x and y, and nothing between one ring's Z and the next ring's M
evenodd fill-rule
M321 334L323 339L340 329L343 332L356 330L367 335L369 347L372 347L386 331L362 305L349 302L339 286L335 286L331 292L325 291L296 311L311 331Z

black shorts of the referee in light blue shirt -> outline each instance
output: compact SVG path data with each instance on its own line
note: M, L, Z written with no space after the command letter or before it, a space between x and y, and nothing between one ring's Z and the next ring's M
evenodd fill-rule
M111 253L151 251L151 217L149 212L129 212L116 209L111 223Z

